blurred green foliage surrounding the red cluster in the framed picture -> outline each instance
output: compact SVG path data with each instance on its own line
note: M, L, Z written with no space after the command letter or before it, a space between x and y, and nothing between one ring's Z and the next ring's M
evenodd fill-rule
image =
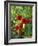
M32 6L10 6L10 22L11 22L11 38L26 38L32 37L32 22L25 25L21 36L16 33L15 25L19 23L16 21L16 15L21 15L24 18L32 19Z

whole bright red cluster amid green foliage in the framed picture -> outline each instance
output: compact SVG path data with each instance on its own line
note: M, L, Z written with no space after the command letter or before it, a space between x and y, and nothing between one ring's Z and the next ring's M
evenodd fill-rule
M27 24L31 21L31 19L26 19L26 18L23 18L22 16L20 15L17 15L16 16L16 20L20 20L19 24L16 25L16 30L21 30L23 29L23 24Z

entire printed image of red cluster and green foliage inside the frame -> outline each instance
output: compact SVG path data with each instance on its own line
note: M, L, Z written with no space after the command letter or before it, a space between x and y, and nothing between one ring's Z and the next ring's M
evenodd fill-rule
M9 12L11 38L32 37L32 6L12 5Z

